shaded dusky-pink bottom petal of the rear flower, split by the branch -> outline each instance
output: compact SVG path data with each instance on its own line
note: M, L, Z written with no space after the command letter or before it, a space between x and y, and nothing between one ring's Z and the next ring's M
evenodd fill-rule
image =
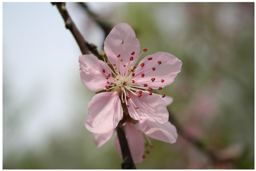
M131 157L134 163L141 163L142 156L144 153L144 137L143 135L129 122L127 122L124 126L125 136L128 142L128 146L131 152ZM118 150L118 154L122 157L122 151L120 147L120 143L118 140L118 136L115 138L115 145Z

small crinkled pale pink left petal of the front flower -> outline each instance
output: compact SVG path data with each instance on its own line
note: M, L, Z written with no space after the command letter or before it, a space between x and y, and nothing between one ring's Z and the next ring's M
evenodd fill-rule
M79 63L79 72L83 85L93 92L103 90L107 85L106 74L111 74L107 64L93 55L80 55ZM106 74L103 73L103 69Z

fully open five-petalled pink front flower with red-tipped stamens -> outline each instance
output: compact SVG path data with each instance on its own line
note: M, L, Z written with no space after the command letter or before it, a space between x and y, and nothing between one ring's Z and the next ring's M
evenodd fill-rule
M108 91L96 94L89 103L86 128L93 133L106 133L117 127L123 117L122 103L135 120L167 122L169 114L162 98L165 95L150 91L171 84L181 71L182 62L172 54L157 52L135 67L146 49L139 55L139 42L127 23L118 24L111 30L104 50L113 70L106 61L97 60L93 55L79 57L83 84L93 92Z

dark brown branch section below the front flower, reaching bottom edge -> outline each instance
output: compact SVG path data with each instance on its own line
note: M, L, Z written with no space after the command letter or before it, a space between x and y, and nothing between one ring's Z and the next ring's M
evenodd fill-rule
M123 156L123 163L121 164L122 169L136 169L135 164L131 158L131 152L128 146L128 142L125 137L125 131L124 131L122 120L118 123L116 130L117 130L118 140L120 142L122 156Z

